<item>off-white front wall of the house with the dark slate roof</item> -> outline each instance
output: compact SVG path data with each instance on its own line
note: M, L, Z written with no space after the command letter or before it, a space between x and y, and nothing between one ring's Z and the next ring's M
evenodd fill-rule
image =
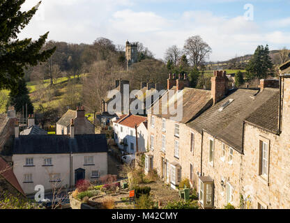
M84 165L84 156L93 156L94 165ZM34 167L24 167L26 157L33 157ZM52 167L43 167L44 159L52 158ZM13 155L13 172L24 193L33 194L36 185L43 185L51 190L54 183L49 183L49 173L61 174L61 185L70 185L70 154L29 154ZM85 178L91 179L92 171L100 171L100 176L107 175L107 153L75 153L73 154L73 185L75 185L75 169L85 169ZM24 183L24 174L32 174L33 183Z

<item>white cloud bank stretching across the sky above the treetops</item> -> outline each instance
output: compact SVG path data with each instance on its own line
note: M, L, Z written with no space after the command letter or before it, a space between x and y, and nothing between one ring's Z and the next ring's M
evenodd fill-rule
M38 1L26 1L23 9L28 10ZM133 10L138 1L44 0L39 10L44 16L33 18L20 38L36 39L49 31L49 39L69 43L93 43L100 36L118 44L128 39L143 43L157 58L163 58L167 47L183 47L188 37L199 35L213 48L213 61L252 53L261 44L278 49L289 43L289 33L276 28L269 31L243 16L229 18L206 10L188 10L167 18L153 9ZM289 19L279 21L284 26Z

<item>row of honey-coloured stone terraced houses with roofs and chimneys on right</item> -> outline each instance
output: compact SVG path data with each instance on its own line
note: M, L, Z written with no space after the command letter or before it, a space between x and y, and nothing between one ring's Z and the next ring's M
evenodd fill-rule
M183 118L153 114L156 102L148 110L145 171L156 169L173 188L190 179L203 208L290 208L289 75L229 90L226 73L215 71L210 91L171 77L167 90L183 90Z

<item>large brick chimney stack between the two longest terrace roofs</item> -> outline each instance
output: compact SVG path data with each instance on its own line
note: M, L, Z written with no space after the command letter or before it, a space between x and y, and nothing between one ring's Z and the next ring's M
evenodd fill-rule
M224 70L215 70L211 77L211 96L213 97L213 105L224 98L229 89L229 79L227 72Z

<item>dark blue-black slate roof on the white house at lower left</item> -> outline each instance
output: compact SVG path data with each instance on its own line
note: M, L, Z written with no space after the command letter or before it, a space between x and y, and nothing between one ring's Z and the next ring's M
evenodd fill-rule
M21 135L14 140L13 154L107 153L105 134Z

